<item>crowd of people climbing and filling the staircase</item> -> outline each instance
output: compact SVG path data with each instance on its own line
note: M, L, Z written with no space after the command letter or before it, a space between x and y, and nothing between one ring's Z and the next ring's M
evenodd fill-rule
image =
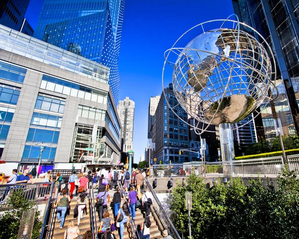
M3 201L9 192L9 184L31 182L27 174L28 170L24 170L22 175L17 175L17 170L13 170L12 176L8 179L8 186L0 201ZM114 231L118 231L120 239L124 239L125 226L130 228L129 217L135 221L138 209L145 209L145 221L137 225L137 233L140 239L149 239L151 226L150 208L153 198L149 190L145 190L142 193L146 177L147 172L145 170L129 172L128 169L116 170L111 167L110 169L99 168L97 170L94 168L88 174L76 174L76 171L73 171L68 179L62 177L60 173L57 173L55 179L53 179L51 171L48 171L43 177L43 182L54 182L55 194L58 196L60 192L56 203L53 205L56 208L57 222L60 223L60 229L63 229L73 197L77 196L76 216L77 226L79 226L80 221L83 219L84 210L86 210L87 214L89 205L88 192L89 190L92 190L92 192L97 190L95 208L100 222L98 229L100 239L114 239ZM115 191L112 199L110 199L110 189ZM108 210L110 207L113 209L112 215L110 215ZM64 232L64 239L92 238L91 231L80 235L80 230L77 226L75 226L74 221L69 221L68 227ZM163 232L163 238L171 239L167 235L167 230Z

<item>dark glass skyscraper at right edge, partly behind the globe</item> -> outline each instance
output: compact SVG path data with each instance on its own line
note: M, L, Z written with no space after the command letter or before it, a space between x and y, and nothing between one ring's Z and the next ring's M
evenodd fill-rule
M239 20L257 29L272 48L277 63L278 97L260 107L256 121L260 139L275 137L275 118L280 118L284 134L299 133L299 3L295 0L232 0ZM243 29L254 34L249 28ZM257 39L259 36L255 35ZM262 39L260 39L262 41Z

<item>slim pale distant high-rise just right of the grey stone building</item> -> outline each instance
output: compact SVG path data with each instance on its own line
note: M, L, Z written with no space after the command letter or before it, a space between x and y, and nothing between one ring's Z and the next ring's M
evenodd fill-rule
M135 102L126 97L120 100L117 111L122 123L122 139L124 140L124 151L133 150L134 114Z

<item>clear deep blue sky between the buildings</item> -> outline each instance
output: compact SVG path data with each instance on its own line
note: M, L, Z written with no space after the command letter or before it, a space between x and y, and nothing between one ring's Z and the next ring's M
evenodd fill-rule
M26 18L33 29L42 2L30 1ZM231 0L126 0L119 59L119 99L129 96L135 101L135 163L147 146L149 98L162 92L165 50L192 26L227 18L232 13Z

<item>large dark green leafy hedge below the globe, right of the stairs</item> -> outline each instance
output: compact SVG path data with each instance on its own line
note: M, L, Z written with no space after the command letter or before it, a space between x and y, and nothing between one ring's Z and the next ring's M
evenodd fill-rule
M191 191L193 239L299 238L299 179L287 167L282 172L277 189L271 182L264 188L261 179L246 187L241 178L209 189L202 178L190 175L187 184L178 184L168 198L171 221L187 238L185 192Z

